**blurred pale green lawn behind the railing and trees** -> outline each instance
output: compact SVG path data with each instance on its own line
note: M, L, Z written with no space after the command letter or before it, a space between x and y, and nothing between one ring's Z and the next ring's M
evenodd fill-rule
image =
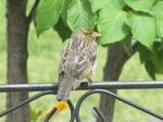
M7 20L5 20L5 0L0 0L0 84L7 82ZM36 36L34 25L32 24L28 36L28 81L29 83L53 83L58 80L58 65L63 44L52 29L43 33L39 38ZM99 46L97 70L92 76L95 81L102 80L103 65L105 61L106 49ZM163 80L162 75L158 75L158 80ZM139 56L136 53L124 66L120 81L151 81L145 68L139 62ZM85 91L72 91L71 98L75 103ZM34 95L36 93L30 93ZM148 107L159 113L163 113L163 89L127 89L118 90L118 95L126 97L139 105ZM98 106L99 96L88 98L87 102L82 107L82 121L93 122L91 115L91 107ZM41 122L46 115L46 111L53 107L55 97L46 96L30 103L32 122ZM0 94L0 111L5 108L5 94ZM88 111L88 114L86 111ZM65 110L58 113L51 120L53 122L67 122L70 111ZM116 101L114 122L147 122L156 119L143 112L140 112L129 106ZM0 119L3 122L4 118Z

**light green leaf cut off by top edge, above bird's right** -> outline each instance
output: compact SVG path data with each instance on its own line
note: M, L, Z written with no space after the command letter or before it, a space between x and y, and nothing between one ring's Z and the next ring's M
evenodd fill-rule
M92 12L103 9L106 4L113 5L116 9L124 7L123 0L89 0Z

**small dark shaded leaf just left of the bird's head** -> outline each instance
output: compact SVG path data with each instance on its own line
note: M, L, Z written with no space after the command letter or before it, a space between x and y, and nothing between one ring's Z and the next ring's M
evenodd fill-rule
M70 38L72 34L72 30L64 24L61 17L54 26L54 30L58 32L59 36L62 38L63 41Z

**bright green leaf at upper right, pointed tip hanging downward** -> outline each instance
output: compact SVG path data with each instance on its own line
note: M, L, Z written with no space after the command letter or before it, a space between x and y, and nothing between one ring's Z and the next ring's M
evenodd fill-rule
M127 24L130 26L134 37L151 49L156 38L154 17L141 13L130 13Z

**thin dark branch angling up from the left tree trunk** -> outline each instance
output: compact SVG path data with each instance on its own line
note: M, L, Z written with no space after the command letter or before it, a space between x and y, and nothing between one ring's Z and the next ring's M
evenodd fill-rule
M35 0L35 3L29 12L29 14L27 15L27 23L28 25L32 23L33 19L34 19L34 15L35 15L35 12L36 12L36 8L38 7L38 3L39 3L40 0Z

